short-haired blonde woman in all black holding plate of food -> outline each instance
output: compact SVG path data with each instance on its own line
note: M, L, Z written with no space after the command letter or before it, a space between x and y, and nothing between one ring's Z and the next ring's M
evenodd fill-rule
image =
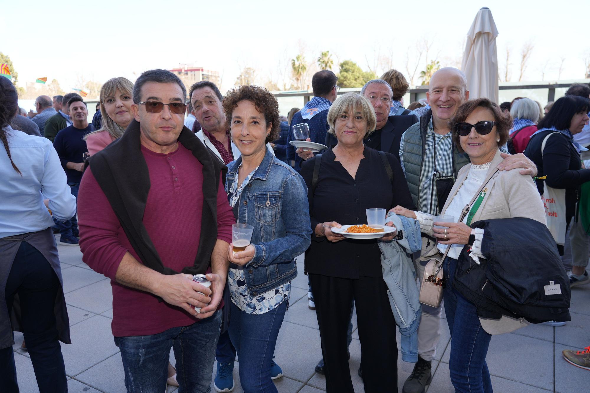
M360 94L346 94L328 112L329 133L337 145L320 159L317 185L310 203L312 244L306 253L317 322L322 338L328 392L353 392L348 366L346 328L350 302L355 300L362 349L362 375L366 392L397 389L397 345L395 320L381 273L379 240L343 238L323 225L366 224L368 208L389 209L397 204L413 207L408 185L398 159L385 153L393 172L377 150L363 139L375 130L372 106ZM316 159L303 163L301 175L312 189ZM388 222L391 226L391 222Z

